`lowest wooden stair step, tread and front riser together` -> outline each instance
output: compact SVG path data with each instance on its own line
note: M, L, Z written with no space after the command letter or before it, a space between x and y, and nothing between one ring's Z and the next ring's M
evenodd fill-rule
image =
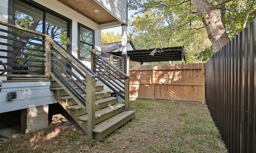
M123 111L97 124L95 126L95 129L92 131L96 133L96 138L98 140L101 140L107 135L109 135L111 132L115 131L117 128L122 126L124 123L131 120L134 117L134 115L134 111Z

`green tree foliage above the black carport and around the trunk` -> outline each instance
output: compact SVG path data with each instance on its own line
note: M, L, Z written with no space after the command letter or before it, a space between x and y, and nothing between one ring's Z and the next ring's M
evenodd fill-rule
M209 2L215 6L224 0ZM128 29L136 49L184 46L187 63L204 62L210 57L211 42L191 1L130 0L128 6L137 10ZM255 18L255 6L255 0L233 0L215 7L216 12L222 14L230 39L242 31L248 11L247 24Z

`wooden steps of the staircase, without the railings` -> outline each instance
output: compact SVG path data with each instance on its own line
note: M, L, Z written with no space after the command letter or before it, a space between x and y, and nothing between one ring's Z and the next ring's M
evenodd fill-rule
M78 87L74 85L74 88L77 89ZM78 125L87 132L87 112L56 81L51 81L50 90L54 91L55 99L58 100ZM80 93L82 93L81 90ZM86 97L86 95L82 95ZM103 91L103 85L95 85L96 125L93 132L97 140L105 138L105 136L131 120L135 115L134 111L124 110L125 104L118 103L118 97L110 96L110 91Z

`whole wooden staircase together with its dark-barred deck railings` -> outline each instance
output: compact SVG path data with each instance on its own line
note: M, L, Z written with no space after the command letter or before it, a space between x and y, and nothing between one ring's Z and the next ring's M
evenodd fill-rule
M18 77L19 79L42 78L50 80L50 90L54 91L56 100L88 134L88 138L101 140L134 117L134 112L129 111L129 76L123 72L124 63L127 63L124 58L92 50L91 68L88 68L46 34L2 21L0 21L0 25L9 27L8 30L0 28L2 33L12 34L12 37L9 37L1 33L1 38L10 40L10 42L15 40L22 42L22 44L33 44L31 47L14 45L9 41L8 43L1 42L1 45L7 47L33 51L33 53L18 52L7 47L6 50L1 50L33 57L30 59L23 56L1 55L1 58L12 61L31 62L31 65L4 63L3 65L10 67L30 67L31 69L7 69L7 72L10 73L1 73L1 75ZM13 29L16 30L13 31ZM19 39L19 37L37 42ZM34 45L36 47L33 47ZM97 80L100 80L104 86L120 96L124 100L124 104L118 103L118 98L110 97L110 91L103 91L103 85L97 85Z

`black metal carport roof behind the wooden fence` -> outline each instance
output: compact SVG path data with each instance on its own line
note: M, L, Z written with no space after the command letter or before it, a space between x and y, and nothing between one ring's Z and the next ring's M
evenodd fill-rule
M154 50L156 50L154 55L150 55ZM136 62L182 61L182 52L186 61L184 46L127 51L127 55L131 61ZM121 56L122 52L111 52L111 54Z

